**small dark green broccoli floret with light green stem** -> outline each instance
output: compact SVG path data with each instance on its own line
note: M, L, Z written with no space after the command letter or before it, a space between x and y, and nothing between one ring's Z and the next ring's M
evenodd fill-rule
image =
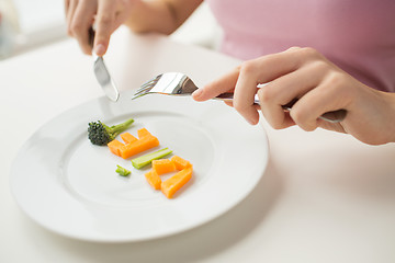
M127 129L134 119L129 118L126 122L109 127L102 122L91 122L88 124L88 138L93 145L105 146L115 137Z

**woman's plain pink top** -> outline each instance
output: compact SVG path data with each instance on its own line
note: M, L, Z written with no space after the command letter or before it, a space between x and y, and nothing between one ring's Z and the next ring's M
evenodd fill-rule
M394 0L206 0L222 50L241 59L313 47L361 82L395 92Z

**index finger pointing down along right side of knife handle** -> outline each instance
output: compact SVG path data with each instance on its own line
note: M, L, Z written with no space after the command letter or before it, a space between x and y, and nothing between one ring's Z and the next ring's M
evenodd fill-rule
M94 38L94 52L98 56L103 56L106 53L111 34L121 25L121 23L117 24L116 15L116 4L112 1L99 1Z

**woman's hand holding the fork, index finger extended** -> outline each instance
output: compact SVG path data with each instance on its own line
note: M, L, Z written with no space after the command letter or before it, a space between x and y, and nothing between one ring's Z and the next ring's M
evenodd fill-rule
M258 89L260 83L268 83ZM298 125L348 133L371 145L395 141L395 93L381 92L359 82L313 48L293 47L286 52L244 62L223 78L198 90L193 98L205 101L234 90L233 106L251 124L260 110L276 129ZM282 105L297 99L291 112ZM326 112L347 110L341 123L318 117Z

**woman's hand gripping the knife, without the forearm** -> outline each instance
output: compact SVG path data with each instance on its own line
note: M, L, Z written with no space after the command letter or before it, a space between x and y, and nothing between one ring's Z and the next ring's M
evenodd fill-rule
M127 19L137 0L65 0L67 32L84 54L92 54L89 28L95 25L93 52L103 56L111 34Z

